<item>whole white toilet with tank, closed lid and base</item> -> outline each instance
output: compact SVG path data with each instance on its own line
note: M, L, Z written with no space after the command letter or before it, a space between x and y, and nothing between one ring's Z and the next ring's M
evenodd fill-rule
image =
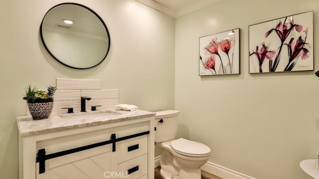
M155 142L160 144L160 175L163 179L201 179L200 167L209 159L210 148L199 142L175 139L179 111L156 112Z

